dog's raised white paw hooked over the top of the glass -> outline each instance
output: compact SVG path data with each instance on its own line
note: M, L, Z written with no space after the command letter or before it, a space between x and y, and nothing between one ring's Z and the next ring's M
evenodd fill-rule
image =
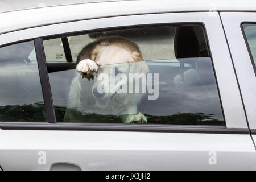
M82 78L88 78L90 80L93 79L94 76L97 75L98 71L98 65L90 60L90 59L84 59L79 62L76 66L76 70L81 73Z

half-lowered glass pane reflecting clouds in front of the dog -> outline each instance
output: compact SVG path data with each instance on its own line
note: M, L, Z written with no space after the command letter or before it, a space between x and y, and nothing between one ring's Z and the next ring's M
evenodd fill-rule
M148 71L129 82L142 64ZM49 80L58 122L121 123L140 112L147 123L225 125L209 57L104 65L94 80L69 69Z

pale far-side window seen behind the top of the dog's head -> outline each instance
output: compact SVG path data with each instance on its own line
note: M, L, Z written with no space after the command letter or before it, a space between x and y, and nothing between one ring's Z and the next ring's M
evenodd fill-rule
M175 27L166 28L137 28L129 31L108 31L89 35L69 37L69 45L73 60L77 59L79 52L86 44L97 40L102 36L121 36L135 42L144 60L173 59L174 55Z

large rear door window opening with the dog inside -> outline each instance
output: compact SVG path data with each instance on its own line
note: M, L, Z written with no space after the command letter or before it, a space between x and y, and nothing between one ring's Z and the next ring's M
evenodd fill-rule
M77 63L47 64L57 122L225 125L202 27L129 28L68 40Z

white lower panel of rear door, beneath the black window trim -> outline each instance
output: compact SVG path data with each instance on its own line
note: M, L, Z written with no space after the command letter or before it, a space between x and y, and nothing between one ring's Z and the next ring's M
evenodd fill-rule
M40 154L46 164L39 164ZM209 162L216 156L216 164ZM119 131L0 130L3 170L255 170L250 135Z

